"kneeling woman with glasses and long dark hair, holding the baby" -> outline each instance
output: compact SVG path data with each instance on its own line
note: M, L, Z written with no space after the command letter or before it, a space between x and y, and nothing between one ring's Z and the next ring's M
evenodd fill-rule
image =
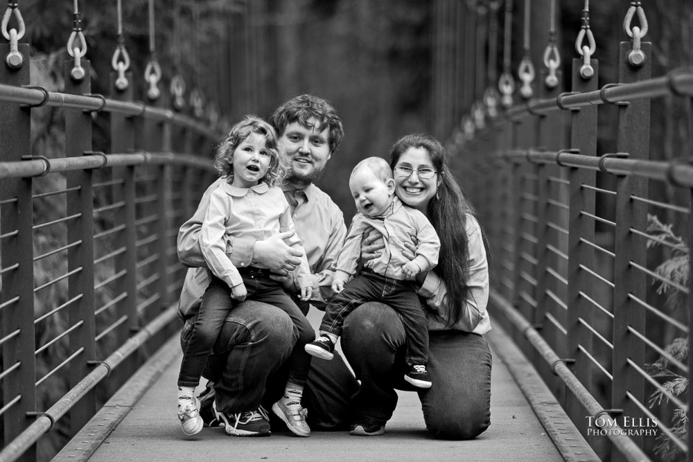
M486 302L489 266L486 238L436 139L412 134L390 150L396 195L421 211L437 232L437 267L417 276L429 329L428 374L435 387L417 389L428 431L436 438L475 438L491 423L491 351L482 337L491 329ZM362 260L380 255L380 233L362 245ZM414 248L408 258L414 258ZM360 387L349 402L351 434L380 435L397 404L403 380L406 336L387 305L368 302L344 321L342 350Z

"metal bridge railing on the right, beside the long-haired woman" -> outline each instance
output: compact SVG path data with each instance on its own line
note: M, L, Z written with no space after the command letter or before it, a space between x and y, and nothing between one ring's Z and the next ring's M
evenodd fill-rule
M649 155L661 143L650 139L651 99L690 105L693 69L651 78L647 64L626 64L629 46L617 84L598 89L574 60L573 91L512 107L451 148L493 249L491 313L590 445L636 461L666 444L692 460L681 422L693 396L693 152ZM616 120L598 125L608 103ZM598 152L610 126L615 150Z

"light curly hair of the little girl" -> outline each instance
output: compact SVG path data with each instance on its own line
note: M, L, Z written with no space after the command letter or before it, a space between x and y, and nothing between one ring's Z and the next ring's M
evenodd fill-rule
M286 177L287 169L283 156L280 154L281 146L277 132L274 131L272 125L254 115L244 116L243 120L231 127L229 134L224 137L216 149L214 168L219 172L219 176L226 177L229 183L234 181L234 152L240 143L243 143L248 136L254 133L265 136L265 149L270 154L270 166L260 181L265 181L269 186L281 183Z

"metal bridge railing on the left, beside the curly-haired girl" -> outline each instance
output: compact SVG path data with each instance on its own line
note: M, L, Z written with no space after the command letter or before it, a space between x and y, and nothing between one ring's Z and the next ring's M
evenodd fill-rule
M132 101L132 85L91 95L70 64L62 92L28 86L28 66L0 66L3 461L35 460L35 443L57 425L75 434L173 334L177 230L214 176L214 130ZM49 137L55 145L31 155L31 114L42 106L61 108L64 141ZM108 154L93 148L101 114Z

